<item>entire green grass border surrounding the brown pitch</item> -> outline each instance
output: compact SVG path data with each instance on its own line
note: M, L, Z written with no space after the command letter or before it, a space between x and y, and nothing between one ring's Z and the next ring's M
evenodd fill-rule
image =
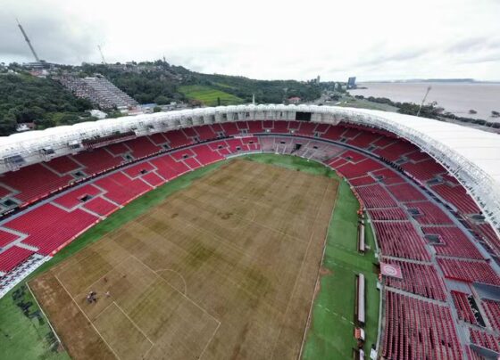
M314 175L338 178L334 171L325 168L322 164L295 156L254 154L246 156L245 159ZM88 244L98 241L104 234L110 233L140 216L162 202L171 193L187 187L197 178L221 167L225 162L221 161L197 169L185 176L180 176L130 202L125 208L116 211L112 216L72 241L52 260L40 266L29 278L46 271L50 266L54 266L65 258L69 258ZM365 274L367 285L367 347L365 349L368 350L377 339L379 316L377 276L371 269L371 263L374 261L373 251L371 250L365 256L359 255L356 251L356 210L358 206L349 186L341 181L323 260L323 266L329 270L329 274L322 276L321 290L314 301L311 329L304 346L304 358L338 359L351 356L351 349L355 346L353 324L351 323L354 318L354 276L359 272ZM371 228L370 226L366 228L367 243L371 245L371 249L374 249ZM24 282L16 286L3 299L0 299L0 357L6 359L67 359L69 356L66 353L50 350L51 331L45 319L37 316L30 319L16 305L20 300L12 299L15 290L25 289L23 284ZM37 313L38 308L34 304L35 300L29 292L24 292L22 301L32 303L29 307L30 314Z

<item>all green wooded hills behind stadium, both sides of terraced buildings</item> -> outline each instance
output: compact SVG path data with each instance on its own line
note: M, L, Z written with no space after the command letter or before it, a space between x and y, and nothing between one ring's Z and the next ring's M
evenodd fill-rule
M253 96L259 103L282 103L289 97L312 101L321 96L321 87L312 82L202 74L166 61L64 65L53 75L67 72L80 77L102 74L137 102L158 105L229 105L252 102ZM75 97L50 77L31 76L16 63L4 67L0 76L0 136L14 133L19 123L33 122L37 129L44 129L95 120L87 111L93 108L90 102Z

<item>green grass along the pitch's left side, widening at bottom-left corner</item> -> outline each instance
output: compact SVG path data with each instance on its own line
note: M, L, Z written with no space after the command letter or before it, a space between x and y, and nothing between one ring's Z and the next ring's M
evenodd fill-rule
M171 193L187 187L197 178L204 176L215 168L221 167L223 164L224 161L221 161L205 168L199 168L130 202L125 208L116 211L72 241L71 244L59 251L54 258L40 266L33 274L30 274L26 280L46 271L49 267L63 261L65 258L71 257L71 255L88 244L101 239L104 234L112 232L145 213L148 209L162 202ZM54 351L50 348L51 344L54 344L54 335L44 316L38 315L39 308L24 285L25 282L21 282L4 298L0 299L0 359L68 359L67 353ZM14 299L16 290L21 293L21 297ZM27 315L23 313L21 307L27 308Z

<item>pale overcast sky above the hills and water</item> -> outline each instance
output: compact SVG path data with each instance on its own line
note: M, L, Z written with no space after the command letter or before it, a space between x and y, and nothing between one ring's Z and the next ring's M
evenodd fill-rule
M2 0L0 61L159 59L249 78L500 80L500 0Z

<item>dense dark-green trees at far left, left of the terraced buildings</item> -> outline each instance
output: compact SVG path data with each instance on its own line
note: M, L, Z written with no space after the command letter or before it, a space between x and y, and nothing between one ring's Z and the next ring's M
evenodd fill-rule
M0 75L0 135L15 132L18 123L34 122L37 129L88 121L92 104L66 91L49 78L29 74Z

